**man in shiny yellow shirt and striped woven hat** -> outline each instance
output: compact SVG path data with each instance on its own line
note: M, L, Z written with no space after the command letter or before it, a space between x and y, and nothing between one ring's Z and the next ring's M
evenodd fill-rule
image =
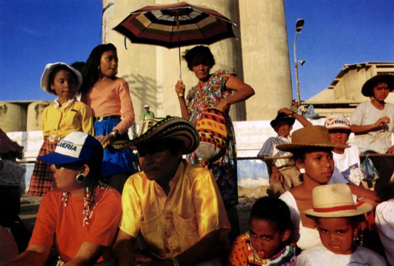
M182 159L198 143L190 122L167 117L144 120L135 139L113 145L136 148L142 169L123 190L123 217L114 245L119 265L217 263L221 236L230 231L230 223L212 173ZM139 232L144 255L134 254Z

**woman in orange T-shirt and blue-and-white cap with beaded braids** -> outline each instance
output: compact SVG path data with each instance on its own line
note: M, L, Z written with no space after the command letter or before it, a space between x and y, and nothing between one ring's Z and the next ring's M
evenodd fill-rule
M25 252L10 265L44 265L53 241L59 263L94 265L107 261L121 216L121 196L101 183L103 149L83 132L67 135L55 151L39 159L51 164L59 190L42 199Z

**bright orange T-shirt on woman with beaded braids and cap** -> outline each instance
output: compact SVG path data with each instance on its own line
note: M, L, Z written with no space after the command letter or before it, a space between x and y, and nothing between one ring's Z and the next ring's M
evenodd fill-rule
M83 225L84 199L68 197L67 207L62 202L63 192L45 194L38 209L33 235L29 245L51 247L55 240L60 259L68 262L75 258L83 242L110 247L121 216L121 196L115 190L99 190L97 205L89 225ZM104 259L100 257L99 261Z

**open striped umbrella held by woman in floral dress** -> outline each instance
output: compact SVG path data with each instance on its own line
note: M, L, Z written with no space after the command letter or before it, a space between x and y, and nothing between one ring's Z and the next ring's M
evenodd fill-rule
M181 46L209 45L235 37L232 25L235 23L215 10L180 2L140 8L131 12L113 30L132 43L178 47L180 68Z

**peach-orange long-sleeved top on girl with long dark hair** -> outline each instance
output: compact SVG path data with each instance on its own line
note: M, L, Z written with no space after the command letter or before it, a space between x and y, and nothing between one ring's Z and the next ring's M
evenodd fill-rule
M86 104L92 108L94 117L122 116L122 121L113 128L121 134L134 123L129 84L124 79L117 79L106 88L91 88L86 95Z

